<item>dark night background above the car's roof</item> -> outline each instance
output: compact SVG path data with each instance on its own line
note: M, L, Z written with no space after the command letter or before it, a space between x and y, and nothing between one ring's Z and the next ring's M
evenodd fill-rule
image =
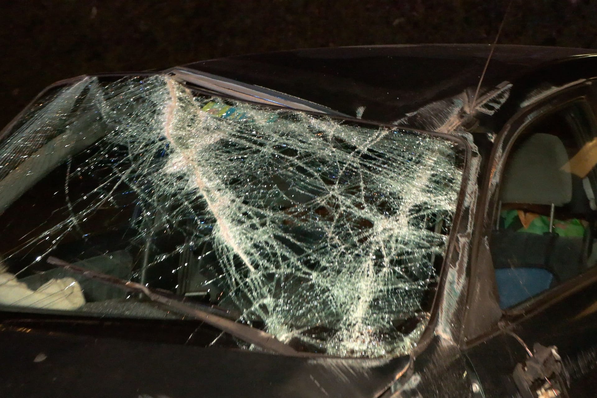
M226 55L306 47L490 43L508 1L0 4L0 125L5 125L45 86L76 75L162 69ZM512 0L499 42L597 49L597 0Z

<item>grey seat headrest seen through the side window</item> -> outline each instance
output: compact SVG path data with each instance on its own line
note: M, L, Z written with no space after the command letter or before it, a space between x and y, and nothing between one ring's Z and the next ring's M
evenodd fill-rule
M568 154L558 137L531 135L506 163L500 200L556 206L570 202L572 178L561 169L567 162Z

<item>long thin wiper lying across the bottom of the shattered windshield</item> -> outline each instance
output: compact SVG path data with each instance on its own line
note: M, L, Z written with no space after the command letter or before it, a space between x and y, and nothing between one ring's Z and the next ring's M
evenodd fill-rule
M90 271L83 267L67 263L67 261L60 260L60 258L56 257L50 256L46 261L49 264L59 266L65 270L73 271L75 273L81 274L82 276L97 279L113 286L118 286L126 291L143 293L147 296L147 298L155 301L156 303L161 303L170 308L174 308L181 313L201 320L202 322L205 322L214 328L220 329L221 331L226 332L233 337L239 338L240 340L246 341L247 343L257 345L257 347L263 348L264 350L273 351L277 354L293 356L301 354L294 350L294 348L290 347L290 345L282 343L275 336L267 332L251 328L251 326L244 325L243 323L234 322L233 320L226 319L220 315L189 306L180 300L176 300L176 298L168 297L167 295L156 292L155 290L147 288L147 286L143 286L140 283L122 280L96 271Z

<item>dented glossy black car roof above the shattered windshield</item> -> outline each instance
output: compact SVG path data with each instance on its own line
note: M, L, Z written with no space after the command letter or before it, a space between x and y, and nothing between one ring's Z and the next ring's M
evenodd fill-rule
M316 48L219 58L190 69L284 92L358 115L393 122L433 101L475 88L490 54L485 44ZM497 45L479 94L552 61L594 50Z

